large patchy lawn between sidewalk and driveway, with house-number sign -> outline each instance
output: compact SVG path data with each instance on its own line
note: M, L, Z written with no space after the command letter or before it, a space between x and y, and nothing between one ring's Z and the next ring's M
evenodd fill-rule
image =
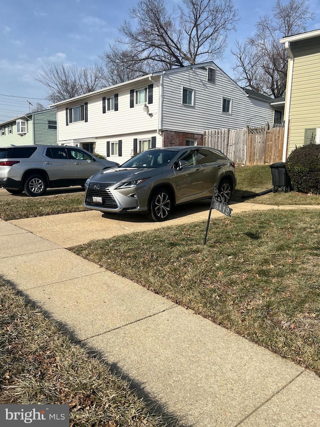
M261 211L135 233L74 253L320 375L319 211Z

